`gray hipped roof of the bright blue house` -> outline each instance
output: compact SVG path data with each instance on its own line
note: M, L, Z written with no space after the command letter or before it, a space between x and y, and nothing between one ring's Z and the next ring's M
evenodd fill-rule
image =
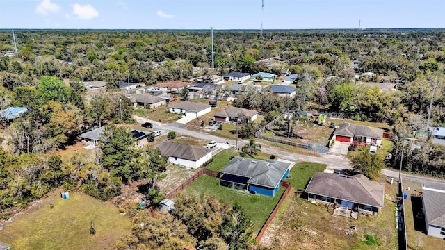
M248 177L249 184L275 188L280 184L290 164L276 160L253 160L234 157L220 170L220 173Z

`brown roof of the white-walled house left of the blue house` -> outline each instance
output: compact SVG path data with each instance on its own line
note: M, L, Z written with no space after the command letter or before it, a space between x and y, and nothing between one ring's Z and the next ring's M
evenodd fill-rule
M200 160L200 158L211 152L211 149L204 147L168 141L156 144L156 147L159 147L162 156L171 156L186 160Z

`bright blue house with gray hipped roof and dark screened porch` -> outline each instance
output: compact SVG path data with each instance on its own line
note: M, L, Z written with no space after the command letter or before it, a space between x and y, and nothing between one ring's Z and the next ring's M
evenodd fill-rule
M220 170L220 185L274 197L291 164L234 157Z

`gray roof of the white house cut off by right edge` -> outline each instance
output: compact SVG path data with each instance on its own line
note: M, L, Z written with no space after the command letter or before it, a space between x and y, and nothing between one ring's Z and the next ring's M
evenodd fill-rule
M423 185L423 206L428 224L445 227L445 185Z

